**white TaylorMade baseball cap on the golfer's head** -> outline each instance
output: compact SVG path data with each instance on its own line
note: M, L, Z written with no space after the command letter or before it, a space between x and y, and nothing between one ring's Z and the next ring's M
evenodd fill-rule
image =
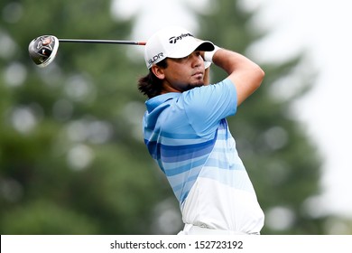
M213 51L214 44L195 38L189 31L171 26L154 33L146 42L144 60L148 69L165 58L183 58L195 50Z

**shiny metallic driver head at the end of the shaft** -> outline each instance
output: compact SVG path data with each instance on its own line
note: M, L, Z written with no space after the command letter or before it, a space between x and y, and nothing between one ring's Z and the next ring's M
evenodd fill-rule
M28 51L38 67L46 67L54 60L59 49L59 40L52 35L42 35L30 42Z

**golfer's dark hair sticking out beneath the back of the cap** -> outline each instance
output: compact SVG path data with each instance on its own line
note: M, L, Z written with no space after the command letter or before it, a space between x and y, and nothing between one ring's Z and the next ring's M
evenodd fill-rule
M168 66L166 59L156 63L156 65L164 69ZM162 80L158 79L152 70L149 70L146 76L138 80L138 89L148 98L154 98L162 92Z

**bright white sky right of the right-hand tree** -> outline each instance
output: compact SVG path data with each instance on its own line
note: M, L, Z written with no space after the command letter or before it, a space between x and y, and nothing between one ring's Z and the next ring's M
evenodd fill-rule
M272 29L257 50L263 61L306 49L319 70L314 88L296 104L297 117L325 158L325 207L352 217L352 38L351 5L346 0L246 0L261 6L256 17ZM348 34L349 33L349 34ZM275 59L276 58L276 59Z

